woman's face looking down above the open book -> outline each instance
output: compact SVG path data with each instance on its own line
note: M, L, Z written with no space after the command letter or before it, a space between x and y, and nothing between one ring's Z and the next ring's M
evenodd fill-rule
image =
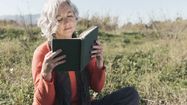
M58 21L56 38L72 38L72 34L76 29L77 20L70 6L67 4L61 4L56 19Z

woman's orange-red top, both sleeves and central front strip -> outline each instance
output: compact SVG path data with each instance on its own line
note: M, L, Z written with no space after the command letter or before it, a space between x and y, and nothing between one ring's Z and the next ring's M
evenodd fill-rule
M55 87L54 87L54 75L51 81L45 81L40 72L45 55L50 51L50 47L47 42L41 44L34 52L32 60L32 76L34 81L34 100L33 105L54 105L55 103ZM90 74L90 87L100 92L104 86L105 81L105 67L101 70L97 69L96 58L91 59L88 64L88 70ZM72 91L72 103L77 105L77 85L74 71L69 71L71 91Z

